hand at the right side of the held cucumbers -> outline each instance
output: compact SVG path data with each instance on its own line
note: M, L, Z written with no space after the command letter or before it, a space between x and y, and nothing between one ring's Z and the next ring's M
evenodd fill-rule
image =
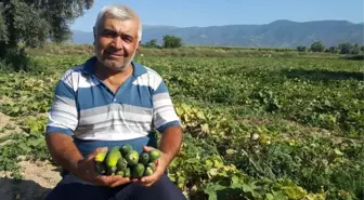
M144 151L150 151L154 149L153 147L148 147L148 146L145 146L144 147ZM155 172L150 175L150 176L143 176L141 178L133 178L132 182L133 183L136 183L136 184L140 184L144 187L150 187L152 186L155 182L157 182L165 173L167 166L168 166L168 163L169 163L169 158L166 154L164 154L162 151L160 151L160 157L158 160L156 160L156 170Z

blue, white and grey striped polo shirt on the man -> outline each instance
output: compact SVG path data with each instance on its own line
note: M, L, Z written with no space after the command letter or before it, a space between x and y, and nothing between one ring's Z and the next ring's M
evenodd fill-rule
M114 94L94 74L96 57L68 69L54 92L46 134L72 135L86 157L96 147L157 147L156 130L180 125L162 78L132 62L133 74Z

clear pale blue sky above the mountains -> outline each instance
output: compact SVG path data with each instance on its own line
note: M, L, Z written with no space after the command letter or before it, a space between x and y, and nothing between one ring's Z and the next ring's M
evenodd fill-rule
M114 3L134 10L144 25L206 27L339 19L364 23L364 0L94 0L70 28L92 31L99 11Z

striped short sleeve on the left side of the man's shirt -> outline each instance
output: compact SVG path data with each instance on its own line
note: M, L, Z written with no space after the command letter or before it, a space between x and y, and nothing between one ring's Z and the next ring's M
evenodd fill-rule
M78 112L76 107L76 95L69 78L67 79L67 76L65 75L55 86L46 134L56 132L73 135L77 124Z

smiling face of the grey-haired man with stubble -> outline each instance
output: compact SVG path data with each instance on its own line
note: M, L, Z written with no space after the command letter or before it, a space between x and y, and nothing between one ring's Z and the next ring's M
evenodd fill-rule
M103 19L95 27L95 54L102 65L122 70L127 67L139 48L138 21Z

